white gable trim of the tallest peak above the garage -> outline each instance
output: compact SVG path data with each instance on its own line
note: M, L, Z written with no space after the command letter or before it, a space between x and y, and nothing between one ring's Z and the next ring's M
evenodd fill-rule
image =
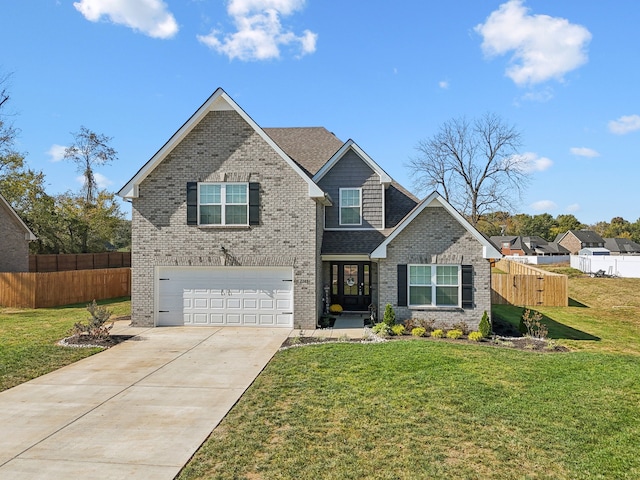
M240 106L233 101L233 99L227 95L222 89L218 88L202 106L196 110L196 112L187 120L176 133L151 157L151 159L145 163L140 170L127 182L127 184L120 189L118 195L123 198L136 198L138 197L138 188L140 183L147 178L147 176L158 166L162 161L171 153L171 151L193 130L193 128L202 121L207 113L212 111L224 111L234 110L245 120L253 130L267 142L267 144L273 148L276 153L296 172L300 175L308 185L309 196L311 198L325 199L325 193L320 187L318 187L309 176L300 168L300 166L287 155L284 150L276 144L265 131L240 108Z

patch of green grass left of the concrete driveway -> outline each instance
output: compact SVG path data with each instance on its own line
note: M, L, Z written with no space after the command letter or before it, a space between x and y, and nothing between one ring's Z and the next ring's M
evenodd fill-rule
M130 311L128 299L98 303L116 316ZM56 345L75 322L88 315L84 304L37 310L0 308L0 391L99 352L98 348Z

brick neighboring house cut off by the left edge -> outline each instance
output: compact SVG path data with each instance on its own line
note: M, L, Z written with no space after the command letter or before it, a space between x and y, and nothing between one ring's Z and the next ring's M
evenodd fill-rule
M0 272L29 271L29 242L36 236L0 195Z

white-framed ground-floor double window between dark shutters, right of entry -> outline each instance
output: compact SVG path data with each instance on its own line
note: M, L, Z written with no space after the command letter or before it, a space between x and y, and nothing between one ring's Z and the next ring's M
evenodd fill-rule
M460 305L458 265L409 265L409 306Z

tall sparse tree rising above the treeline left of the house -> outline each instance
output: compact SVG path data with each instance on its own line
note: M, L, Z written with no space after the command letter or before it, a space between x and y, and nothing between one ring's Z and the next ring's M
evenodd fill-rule
M65 148L64 158L71 160L78 167L78 172L84 176L84 193L87 204L93 202L97 191L94 168L98 165L108 165L117 160L117 152L109 146L111 137L97 134L82 126L80 131L72 133L74 142Z

